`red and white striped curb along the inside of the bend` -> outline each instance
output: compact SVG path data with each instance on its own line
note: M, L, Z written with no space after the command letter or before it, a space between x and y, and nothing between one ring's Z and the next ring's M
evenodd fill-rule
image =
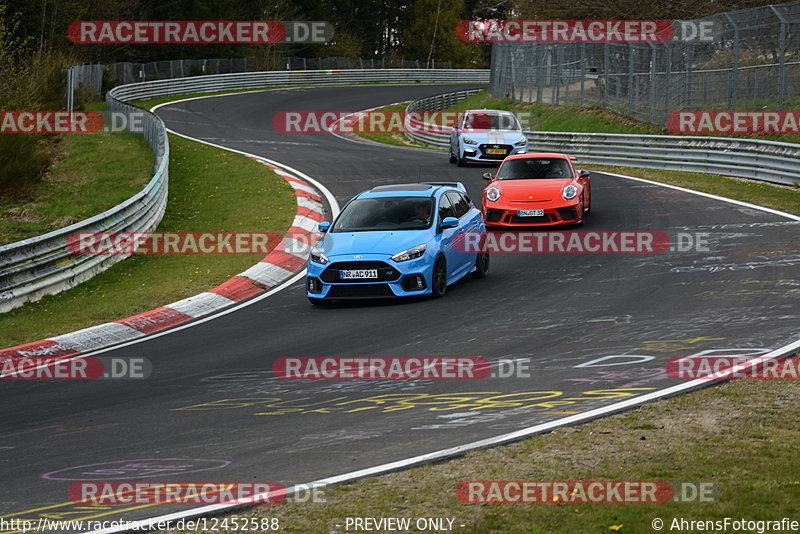
M294 189L297 211L283 240L263 260L243 273L198 295L132 317L104 323L50 339L0 350L0 358L74 356L186 323L268 291L305 268L311 246L319 240L317 224L325 220L321 195L308 182L271 163L249 155L285 179Z

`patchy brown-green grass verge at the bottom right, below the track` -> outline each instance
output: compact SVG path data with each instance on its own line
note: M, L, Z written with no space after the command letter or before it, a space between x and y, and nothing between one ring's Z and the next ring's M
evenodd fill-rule
M798 381L726 383L448 462L328 487L324 503L284 502L232 516L277 517L281 532L298 534L352 532L344 528L347 517L406 517L412 525L421 517L453 518L459 534L652 534L654 518L665 532L675 532L670 526L681 517L797 520L800 459L791 444L800 439L798 399ZM463 504L455 490L469 480L703 482L713 483L714 500Z

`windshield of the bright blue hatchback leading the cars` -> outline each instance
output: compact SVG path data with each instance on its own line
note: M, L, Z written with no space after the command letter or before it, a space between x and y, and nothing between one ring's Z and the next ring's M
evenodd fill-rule
M433 222L430 197L361 198L348 204L332 232L423 230Z

